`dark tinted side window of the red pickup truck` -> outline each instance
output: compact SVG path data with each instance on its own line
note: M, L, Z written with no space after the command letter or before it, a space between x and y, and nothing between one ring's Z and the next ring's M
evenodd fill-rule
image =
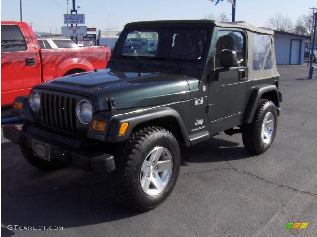
M1 52L18 52L27 50L22 32L15 25L1 25Z

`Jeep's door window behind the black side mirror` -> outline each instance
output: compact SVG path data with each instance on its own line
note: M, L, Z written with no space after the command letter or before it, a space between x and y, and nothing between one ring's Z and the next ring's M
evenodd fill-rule
M237 53L237 63L239 66L245 65L245 40L243 34L235 31L219 31L216 45L216 68L220 65L220 54L224 49L235 50Z

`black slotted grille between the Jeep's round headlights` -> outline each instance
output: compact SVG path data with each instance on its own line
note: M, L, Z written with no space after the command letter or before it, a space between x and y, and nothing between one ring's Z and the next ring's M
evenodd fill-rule
M43 125L76 135L76 99L42 92Z

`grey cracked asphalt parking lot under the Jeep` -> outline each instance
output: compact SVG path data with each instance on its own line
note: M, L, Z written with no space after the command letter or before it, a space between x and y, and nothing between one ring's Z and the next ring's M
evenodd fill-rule
M116 204L107 174L37 170L1 138L1 235L316 236L316 71L313 80L306 66L278 71L283 103L272 147L253 156L240 134L224 133L181 147L174 191L145 213ZM288 222L309 224L285 229Z

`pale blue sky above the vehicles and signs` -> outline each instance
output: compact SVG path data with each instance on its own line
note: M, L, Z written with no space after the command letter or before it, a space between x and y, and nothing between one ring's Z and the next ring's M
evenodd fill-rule
M56 4L60 5L60 7ZM23 21L34 22L38 32L61 32L67 0L23 0ZM68 0L68 9L72 0ZM225 12L231 20L231 5L223 1L215 6L208 0L160 0L160 1L105 1L76 0L81 5L78 13L85 14L85 25L106 30L110 15L111 26L121 30L132 21L202 19L204 15ZM293 23L302 14L311 13L316 0L237 0L236 21L246 21L255 26L265 26L275 12L288 15ZM62 9L63 8L63 9ZM1 21L20 21L20 0L1 0Z

